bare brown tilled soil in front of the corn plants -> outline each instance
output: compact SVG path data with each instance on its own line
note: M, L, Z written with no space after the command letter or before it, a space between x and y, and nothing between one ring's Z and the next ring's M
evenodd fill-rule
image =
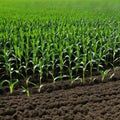
M0 120L120 120L120 69L104 82L94 81L70 86L68 81L48 83L37 93L33 87L27 97L21 89L13 95L1 91Z

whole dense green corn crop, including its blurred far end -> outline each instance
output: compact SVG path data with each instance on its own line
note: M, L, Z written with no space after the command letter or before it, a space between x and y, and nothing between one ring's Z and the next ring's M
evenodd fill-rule
M0 1L0 87L8 83L10 93L18 83L29 96L29 84L40 91L48 80L92 80L94 71L103 80L106 68L119 66L118 1L105 1L111 13L95 0Z

